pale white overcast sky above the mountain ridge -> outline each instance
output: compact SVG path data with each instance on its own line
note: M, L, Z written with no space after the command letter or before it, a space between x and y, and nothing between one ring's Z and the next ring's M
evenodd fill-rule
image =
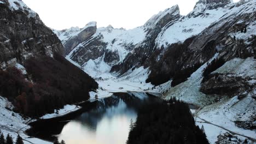
M135 28L154 14L178 4L182 15L193 10L198 0L23 0L36 11L46 26L65 29L84 27L96 21L97 27ZM238 0L234 0L238 1Z

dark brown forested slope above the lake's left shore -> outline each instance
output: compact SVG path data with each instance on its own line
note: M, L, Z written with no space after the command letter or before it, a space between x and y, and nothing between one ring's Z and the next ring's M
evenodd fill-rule
M0 94L27 116L42 116L87 100L89 91L98 87L88 74L59 55L32 57L25 68L27 77L14 67L0 70Z

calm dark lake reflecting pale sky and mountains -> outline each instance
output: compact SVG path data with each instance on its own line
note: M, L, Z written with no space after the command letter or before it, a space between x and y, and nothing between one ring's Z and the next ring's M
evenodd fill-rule
M31 123L28 135L67 144L125 144L131 119L139 107L161 100L146 93L117 93L112 97L83 104L72 115Z

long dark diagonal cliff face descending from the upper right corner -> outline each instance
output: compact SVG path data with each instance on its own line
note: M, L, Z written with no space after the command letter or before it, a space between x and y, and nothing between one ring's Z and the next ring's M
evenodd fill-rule
M252 4L255 6L255 1L250 2L253 2ZM252 11L254 8L249 3L237 7L236 5L238 4L226 6L229 9L231 8L229 13L223 15L218 21L211 23L189 43L184 43L185 46L183 44L182 47L179 47L178 49L183 48L183 50L176 59L168 57L172 55L171 53L173 53L176 45L169 46L167 51L163 53L163 57L159 61L153 62L156 64L154 68L151 68L152 73L149 75L149 82L159 80L159 77L172 77L182 69L193 68L195 64L202 65L217 52L220 53L219 57L222 57L225 61L235 57L255 57L255 46L253 46L255 33L253 29L256 19L255 11ZM237 14L237 10L240 13ZM245 32L245 29L249 29L249 31L246 30ZM174 52L177 55L177 51ZM166 82L166 80L160 83L163 82Z

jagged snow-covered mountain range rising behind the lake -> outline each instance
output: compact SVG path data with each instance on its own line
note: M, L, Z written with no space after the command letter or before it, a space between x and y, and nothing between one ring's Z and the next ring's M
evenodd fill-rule
M178 5L174 5L134 29L115 29L112 26L96 28L96 22L90 22L81 29L54 32L65 46L66 57L81 67L88 68L92 63L101 64L104 68L98 67L98 71L117 72L119 75L133 67L149 67L152 73L147 82L159 85L172 79L177 70L207 62L217 52L216 47L224 47L219 44L221 40L234 36L248 39L255 34L254 6L253 0L238 3L230 0L200 0L186 16L180 15ZM247 33L240 33L245 27ZM74 42L74 39L79 40ZM167 55L174 51L172 47L179 43L185 44L186 40L188 43L183 46L183 53L176 52L179 56L167 62ZM208 49L211 44L215 46ZM245 51L253 56L252 47ZM155 82L155 77L160 75L167 79Z

